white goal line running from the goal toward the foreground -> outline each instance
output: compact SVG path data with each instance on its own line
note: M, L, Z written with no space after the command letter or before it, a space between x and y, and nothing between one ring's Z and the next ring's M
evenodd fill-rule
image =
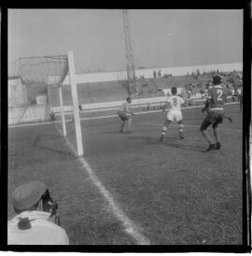
M56 129L59 131L59 133L61 133L61 131L59 130L58 127L56 127ZM69 142L68 138L64 137L64 139L66 140L66 144L68 145L68 147L70 149L72 149L75 152L75 154L76 154L76 149L74 149L73 145ZM133 239L135 240L137 245L150 245L150 241L147 239L147 237L142 235L137 230L137 227L133 223L133 221L130 220L126 216L126 214L119 208L119 205L115 202L115 200L113 199L112 195L105 189L105 186L99 180L99 178L97 178L95 176L93 170L91 169L91 165L85 160L85 158L83 156L82 157L78 157L78 161L82 165L83 169L85 171L87 171L87 173L89 174L93 184L97 187L99 192L101 192L101 194L105 197L105 200L107 201L107 203L111 207L113 213L115 214L117 219L121 222L122 226L124 227L125 232L128 235L131 235L133 237Z

